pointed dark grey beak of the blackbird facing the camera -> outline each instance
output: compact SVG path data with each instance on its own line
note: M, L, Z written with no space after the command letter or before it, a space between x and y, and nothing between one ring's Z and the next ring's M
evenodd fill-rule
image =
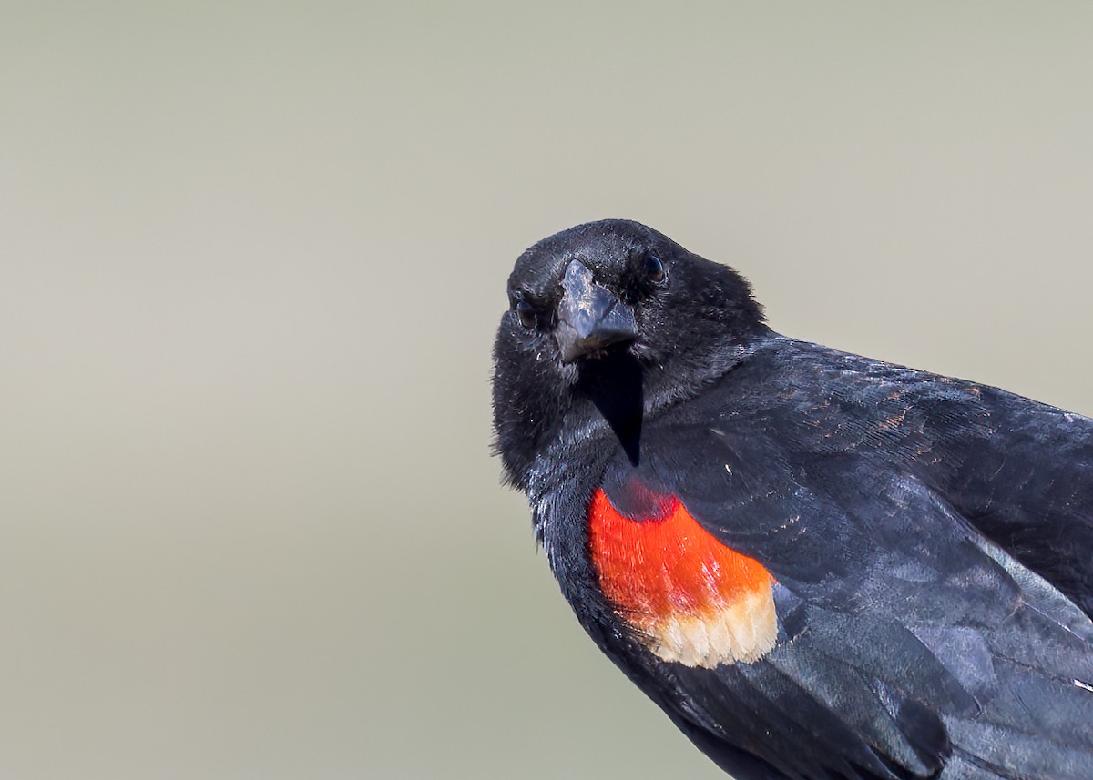
M592 279L579 260L572 260L562 279L554 339L562 363L598 352L610 344L637 338L634 311Z

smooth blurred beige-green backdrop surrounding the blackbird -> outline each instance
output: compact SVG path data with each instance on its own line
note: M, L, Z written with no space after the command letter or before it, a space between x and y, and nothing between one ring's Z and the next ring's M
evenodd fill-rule
M717 778L490 456L516 256L1093 413L1093 5L8 2L0 776Z

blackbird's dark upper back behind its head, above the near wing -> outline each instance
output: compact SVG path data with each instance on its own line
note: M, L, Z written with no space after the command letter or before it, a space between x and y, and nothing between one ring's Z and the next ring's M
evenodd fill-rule
M850 458L914 475L1093 614L1093 419L1013 393L780 339L690 407L728 414L798 465Z

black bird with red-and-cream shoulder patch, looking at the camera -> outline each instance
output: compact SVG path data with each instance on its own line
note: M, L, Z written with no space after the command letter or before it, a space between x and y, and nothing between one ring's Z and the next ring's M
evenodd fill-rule
M1093 419L783 335L637 222L542 239L507 295L503 478L721 769L1093 778Z

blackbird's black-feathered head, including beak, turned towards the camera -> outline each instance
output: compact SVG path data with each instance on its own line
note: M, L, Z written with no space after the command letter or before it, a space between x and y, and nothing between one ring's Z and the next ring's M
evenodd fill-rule
M720 376L734 346L765 330L736 271L625 220L532 246L508 277L508 302L494 347L494 425L516 484L567 415L591 414L583 399L598 394L602 411L603 398L633 395L636 383L638 413L662 405Z

